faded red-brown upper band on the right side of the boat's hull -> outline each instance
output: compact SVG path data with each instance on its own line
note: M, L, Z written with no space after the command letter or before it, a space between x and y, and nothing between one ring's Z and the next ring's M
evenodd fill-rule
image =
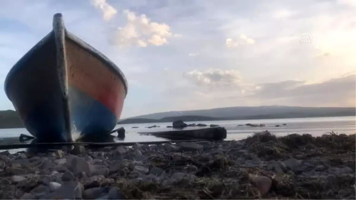
M66 54L69 84L100 101L119 119L126 95L120 78L70 40L66 41Z

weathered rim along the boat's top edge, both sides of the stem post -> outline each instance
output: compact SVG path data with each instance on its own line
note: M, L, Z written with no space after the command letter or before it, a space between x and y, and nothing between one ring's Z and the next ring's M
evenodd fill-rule
M65 36L66 38L68 38L69 40L77 43L80 47L82 47L84 49L84 51L89 52L90 54L92 54L95 58L99 59L101 62L105 63L105 66L108 67L109 69L111 69L113 72L115 72L116 75L119 76L119 78L122 81L122 84L124 84L125 87L125 98L127 96L127 92L128 92L128 84L127 84L127 80L126 77L124 75L124 73L122 73L121 69L115 64L113 63L108 57L106 57L103 53L99 52L97 49L95 49L94 47L90 46L90 44L84 42L83 40L81 40L80 38L78 38L77 36L75 36L73 33L67 31L66 28L64 28L64 32L65 32ZM53 37L53 38L51 38ZM13 74L15 74L17 72L17 70L21 69L21 66L26 63L27 59L30 58L32 56L32 54L34 52L36 52L38 49L40 49L43 44L45 44L46 42L48 42L50 39L54 40L54 31L52 29L51 32L49 32L45 37L43 37L40 41L38 41L35 46L33 46L30 50L28 50L28 52L26 52L13 66L12 68L9 70L9 73L7 74L5 81L4 81L4 90L5 90L5 94L6 96L9 98L9 94L8 94L8 82L10 77L13 76ZM11 100L11 99L10 99Z

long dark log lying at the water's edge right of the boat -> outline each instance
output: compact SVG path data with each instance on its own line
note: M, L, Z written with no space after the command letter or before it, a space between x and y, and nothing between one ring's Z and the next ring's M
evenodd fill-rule
M175 130L162 132L141 132L143 135L153 135L168 139L205 139L205 140L223 140L226 138L226 129L224 127L199 128L193 130Z

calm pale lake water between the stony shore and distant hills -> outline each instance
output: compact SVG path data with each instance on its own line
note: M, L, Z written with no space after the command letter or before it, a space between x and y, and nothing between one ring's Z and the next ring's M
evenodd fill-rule
M278 136L288 135L291 133L309 133L313 136L320 136L326 132L345 133L347 135L356 133L356 116L347 117L313 117L313 118L291 118L291 119L267 119L267 120L231 120L231 121L197 121L186 123L205 123L217 124L223 126L227 130L227 140L241 140L255 132L268 130ZM265 127L247 127L237 126L246 123L263 123ZM275 125L282 125L286 123L287 126L275 127ZM146 128L148 126L157 125L158 128ZM119 142L143 142L143 141L164 141L166 139L155 136L141 135L139 132L155 132L155 131L169 131L172 128L172 123L141 123L141 124L123 124L117 125L116 128L124 127L126 130L126 137L124 140L116 140ZM139 128L131 128L137 126ZM186 129L197 129L199 127L187 127ZM10 128L0 129L0 144L9 143L10 139L18 137L21 133L30 135L25 128ZM115 135L115 133L113 134ZM13 141L17 143L17 141ZM11 142L11 143L13 143Z

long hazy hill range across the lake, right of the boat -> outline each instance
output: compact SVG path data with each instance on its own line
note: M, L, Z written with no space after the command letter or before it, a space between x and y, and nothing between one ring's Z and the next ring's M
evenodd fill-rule
M297 106L258 106L223 107L206 110L170 111L131 117L124 123L155 123L215 120L254 120L302 117L356 116L356 107L297 107Z

